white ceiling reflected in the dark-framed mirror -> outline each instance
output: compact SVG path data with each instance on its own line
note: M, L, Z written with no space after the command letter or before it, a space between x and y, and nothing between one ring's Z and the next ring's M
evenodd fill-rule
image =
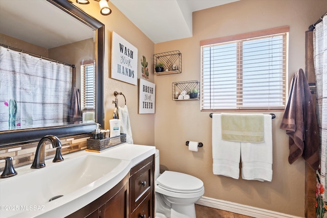
M46 49L95 36L90 27L45 0L0 0L0 31Z

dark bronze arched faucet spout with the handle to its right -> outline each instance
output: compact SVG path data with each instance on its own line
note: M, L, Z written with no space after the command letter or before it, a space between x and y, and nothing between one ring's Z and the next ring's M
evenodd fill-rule
M41 140L39 141L39 143L37 145L34 161L33 161L31 168L37 169L37 168L42 168L45 166L45 163L44 163L45 148L44 148L44 146L45 146L46 141L51 142L52 148L57 148L55 158L53 159L52 162L59 162L59 161L63 160L63 157L61 156L61 142L60 142L59 138L54 135L46 135L43 138L41 138Z

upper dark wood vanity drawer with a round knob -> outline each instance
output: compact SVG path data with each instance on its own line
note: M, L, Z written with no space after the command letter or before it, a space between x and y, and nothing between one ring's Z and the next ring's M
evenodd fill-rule
M131 213L153 191L153 156L131 169L130 210Z

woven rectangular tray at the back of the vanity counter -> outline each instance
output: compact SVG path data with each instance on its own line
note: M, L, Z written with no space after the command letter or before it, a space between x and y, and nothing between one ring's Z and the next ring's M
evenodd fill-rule
M86 141L86 151L101 152L105 149L118 146L119 144L126 142L126 134L118 136L104 138L104 139L92 139L88 138Z

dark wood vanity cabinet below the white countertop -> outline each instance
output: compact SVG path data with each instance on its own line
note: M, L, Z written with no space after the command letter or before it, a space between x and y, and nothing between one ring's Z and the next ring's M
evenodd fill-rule
M97 200L67 217L154 218L154 155L133 166L130 173Z

